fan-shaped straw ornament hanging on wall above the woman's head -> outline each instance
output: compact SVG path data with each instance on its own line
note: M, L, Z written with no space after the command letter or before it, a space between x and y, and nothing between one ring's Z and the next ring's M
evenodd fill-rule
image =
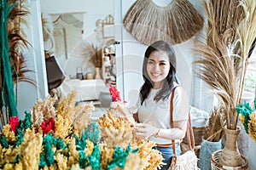
M137 41L146 45L157 40L185 42L201 30L204 20L188 0L173 0L166 7L153 0L137 0L124 19L124 26Z

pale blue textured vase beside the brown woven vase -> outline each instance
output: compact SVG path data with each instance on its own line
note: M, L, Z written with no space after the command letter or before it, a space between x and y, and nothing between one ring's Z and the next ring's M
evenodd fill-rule
M221 140L219 140L218 142L210 142L205 139L202 139L198 167L200 167L201 170L211 169L212 153L216 150L221 149Z

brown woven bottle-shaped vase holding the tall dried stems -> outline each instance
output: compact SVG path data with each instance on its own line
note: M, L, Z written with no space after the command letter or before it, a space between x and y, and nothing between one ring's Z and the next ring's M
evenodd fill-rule
M224 127L226 134L226 144L224 150L219 157L219 162L227 167L240 167L242 165L241 154L237 148L237 137L241 127L236 127L236 130L227 129Z

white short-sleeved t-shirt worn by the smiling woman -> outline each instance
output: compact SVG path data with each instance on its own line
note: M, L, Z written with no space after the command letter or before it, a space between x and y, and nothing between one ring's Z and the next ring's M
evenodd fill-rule
M137 101L137 113L139 122L148 123L154 127L168 129L170 125L170 99L171 95L165 101L160 99L158 102L154 101L154 96L160 89L151 89L148 98L144 100L141 105L141 100ZM189 116L189 98L186 92L181 87L175 89L173 99L173 121L188 120ZM156 144L171 144L170 139L154 138L151 136L149 140Z

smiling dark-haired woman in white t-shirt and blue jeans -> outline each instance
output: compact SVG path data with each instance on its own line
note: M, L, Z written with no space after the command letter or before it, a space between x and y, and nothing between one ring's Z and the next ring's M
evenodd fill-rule
M180 143L189 118L189 97L178 84L176 71L176 54L170 43L157 41L148 46L143 60L144 83L135 106L134 118L139 122L135 136L155 142L155 149L165 159L163 170L169 169L172 156L181 155ZM176 154L172 153L174 145Z

